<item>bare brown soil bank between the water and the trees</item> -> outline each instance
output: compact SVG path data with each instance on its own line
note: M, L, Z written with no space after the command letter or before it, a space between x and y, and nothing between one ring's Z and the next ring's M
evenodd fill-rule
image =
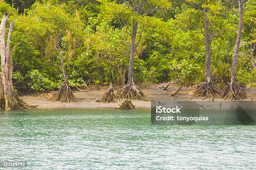
M193 89L182 87L178 94L175 96L169 96L174 91L176 91L177 86L170 86L168 90L163 90L158 88L159 86L164 86L165 84L153 84L151 86L145 86L142 89L143 93L146 95L148 101L143 100L131 100L133 104L136 106L136 109L150 109L151 108L151 100L174 100L174 101L212 101L212 98L195 98L192 96ZM114 109L119 107L124 100L117 100L116 103L98 103L96 99L102 97L102 94L108 89L108 86L101 89L88 90L88 92L82 91L73 91L74 96L77 98L84 98L81 101L76 101L74 103L61 103L61 102L53 102L41 97L37 96L23 96L28 104L38 105L37 108L85 108L85 109ZM114 87L114 92L117 92L117 88ZM248 94L247 101L256 101L256 89L246 89L246 93ZM253 95L253 98L251 97ZM214 101L224 101L220 97L214 97Z

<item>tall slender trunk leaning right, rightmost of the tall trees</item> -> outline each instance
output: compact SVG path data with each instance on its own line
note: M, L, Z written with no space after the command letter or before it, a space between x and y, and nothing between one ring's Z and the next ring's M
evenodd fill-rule
M237 63L237 55L240 46L241 36L242 36L242 28L243 28L243 0L239 1L239 22L238 22L238 30L237 30L237 37L236 37L236 45L233 55L232 61L232 70L231 70L231 78L230 84L233 84L236 81L236 63Z

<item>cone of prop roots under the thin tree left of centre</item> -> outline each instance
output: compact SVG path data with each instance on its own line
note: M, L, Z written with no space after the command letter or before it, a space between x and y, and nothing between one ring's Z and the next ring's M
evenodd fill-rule
M53 92L51 94L50 99L52 101L61 101L61 102L66 102L66 103L80 100L74 96L69 85L67 85L65 83L63 83L61 85L61 88L57 92Z

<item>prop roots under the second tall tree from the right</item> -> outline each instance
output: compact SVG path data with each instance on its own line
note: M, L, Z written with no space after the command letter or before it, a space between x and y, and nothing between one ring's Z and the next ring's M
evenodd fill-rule
M215 86L209 83L200 83L199 86L196 87L195 93L193 94L194 97L212 97L212 96L219 96L217 89Z

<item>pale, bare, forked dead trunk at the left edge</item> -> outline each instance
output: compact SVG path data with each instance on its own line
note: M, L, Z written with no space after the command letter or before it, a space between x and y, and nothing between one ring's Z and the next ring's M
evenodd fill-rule
M5 24L8 16L3 15L0 25L0 55L2 66L2 81L5 94L5 109L12 110L15 107L15 96L13 93L13 62L12 53L10 51L10 41L12 36L14 21L10 23L7 44L5 47Z

